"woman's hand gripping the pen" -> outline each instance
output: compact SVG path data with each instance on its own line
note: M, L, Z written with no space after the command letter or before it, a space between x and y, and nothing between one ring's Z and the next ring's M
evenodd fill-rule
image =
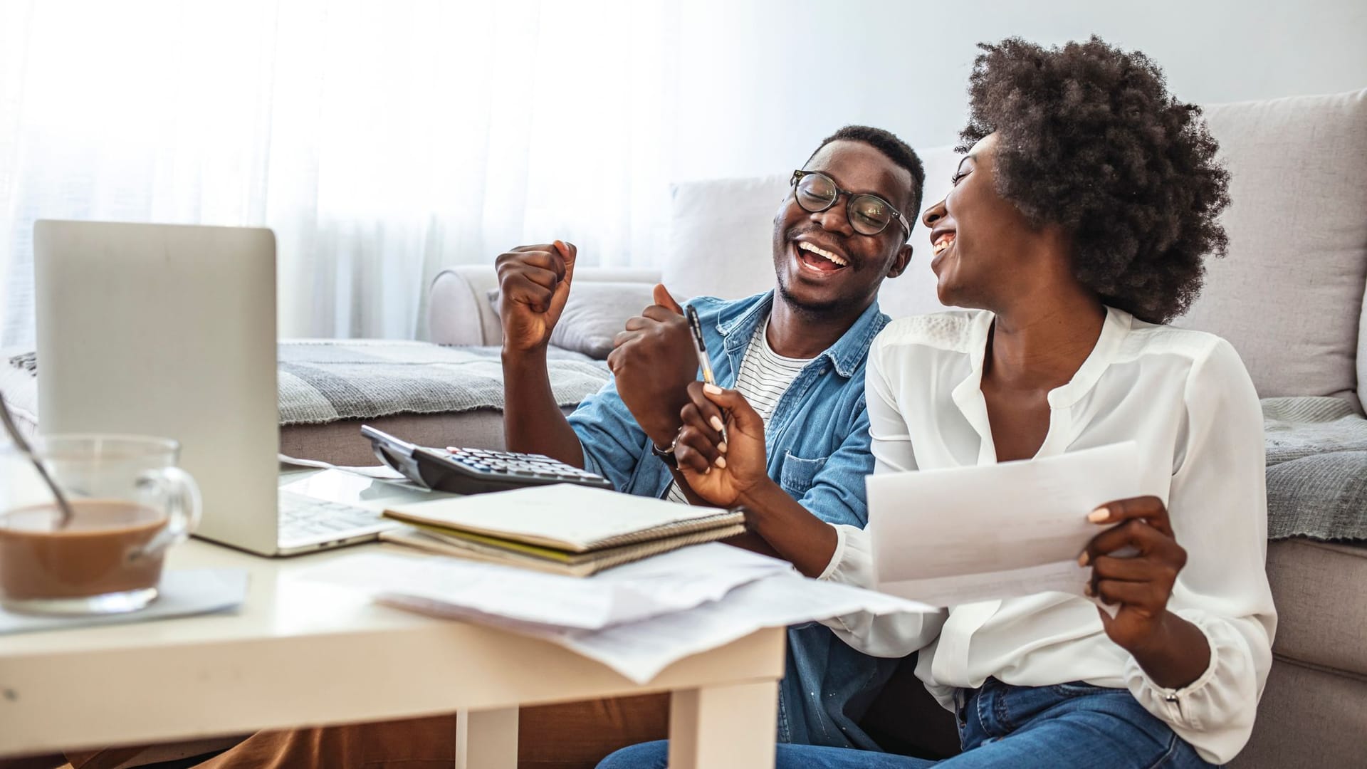
M679 472L693 491L712 505L746 504L746 495L770 480L764 420L735 390L693 382L688 394L689 404L679 413L684 428L674 446ZM723 426L726 441L722 439Z

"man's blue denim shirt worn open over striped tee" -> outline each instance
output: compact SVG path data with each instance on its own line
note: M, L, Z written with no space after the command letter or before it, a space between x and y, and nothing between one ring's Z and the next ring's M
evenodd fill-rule
M722 387L735 386L745 349L772 302L774 291L689 302L703 323L712 372ZM827 523L868 523L864 476L874 472L874 456L864 365L874 337L886 324L878 302L869 305L793 379L764 430L770 478ZM615 382L586 398L570 415L570 424L584 446L585 468L606 476L618 491L660 497L674 480L664 462L651 454L649 438L622 402ZM860 654L815 623L789 628L787 639L779 742L878 750L857 721L897 661Z

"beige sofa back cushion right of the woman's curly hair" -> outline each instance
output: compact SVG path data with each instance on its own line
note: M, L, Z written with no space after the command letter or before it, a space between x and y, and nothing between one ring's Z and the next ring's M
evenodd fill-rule
M1228 259L1176 324L1229 339L1260 397L1357 397L1367 90L1206 108L1230 171Z

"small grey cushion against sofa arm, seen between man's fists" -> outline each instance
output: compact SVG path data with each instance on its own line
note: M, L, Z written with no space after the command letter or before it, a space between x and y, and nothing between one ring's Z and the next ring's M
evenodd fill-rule
M488 301L498 313L499 289L489 289ZM576 282L560 320L551 330L551 343L606 360L612 352L612 338L625 328L626 319L641 315L652 304L655 283Z

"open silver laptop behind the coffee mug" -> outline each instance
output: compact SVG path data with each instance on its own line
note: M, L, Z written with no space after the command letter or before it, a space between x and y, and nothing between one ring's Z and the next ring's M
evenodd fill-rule
M282 479L271 230L40 220L33 246L38 431L178 439L204 495L197 536L308 553L376 539L395 525L385 505L422 495L338 471Z

